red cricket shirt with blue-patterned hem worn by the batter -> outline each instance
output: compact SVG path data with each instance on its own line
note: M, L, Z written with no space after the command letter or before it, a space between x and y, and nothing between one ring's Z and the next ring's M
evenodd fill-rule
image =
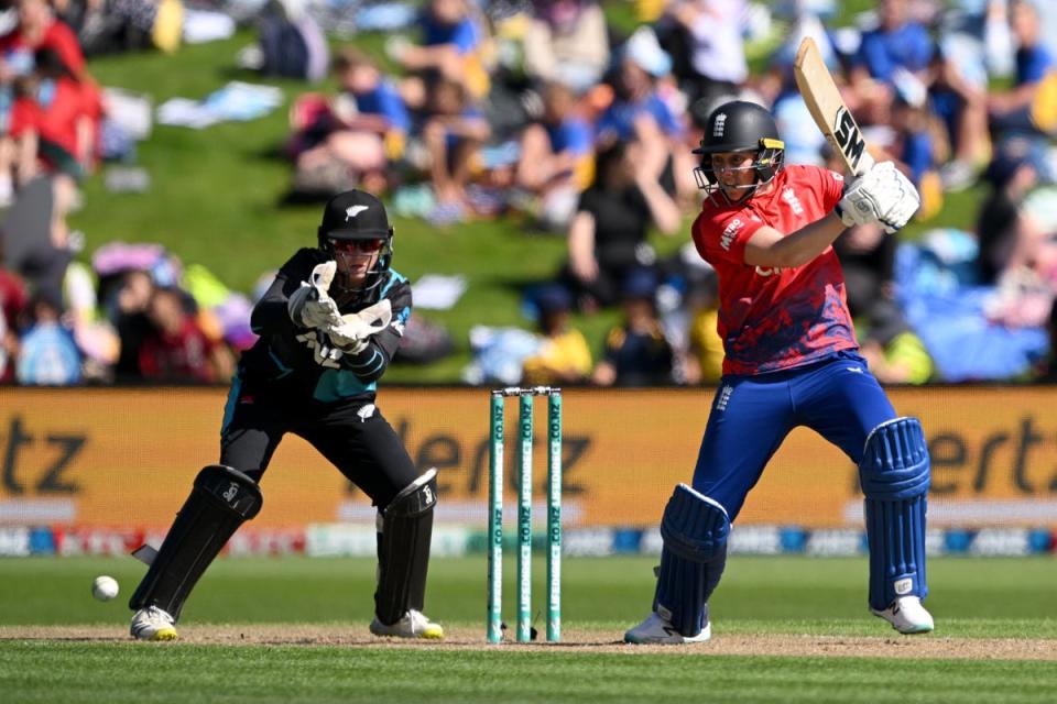
M783 234L820 220L841 198L840 174L786 166L774 188L733 206L706 200L691 234L719 277L723 374L761 374L858 349L833 248L795 268L745 264L745 244L763 226Z

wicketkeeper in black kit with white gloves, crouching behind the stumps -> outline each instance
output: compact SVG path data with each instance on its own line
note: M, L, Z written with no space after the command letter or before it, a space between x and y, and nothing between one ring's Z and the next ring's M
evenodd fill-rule
M261 509L261 477L286 432L307 440L378 507L371 632L444 637L422 613L436 470L418 473L374 406L411 315L411 285L390 270L393 228L381 201L350 190L327 202L318 248L302 249L253 308L260 334L231 385L220 463L198 473L129 606L132 636L173 640L195 583Z

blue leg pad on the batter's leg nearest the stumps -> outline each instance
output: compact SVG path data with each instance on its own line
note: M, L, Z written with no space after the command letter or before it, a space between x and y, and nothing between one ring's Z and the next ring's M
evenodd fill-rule
M705 627L706 604L727 564L730 520L717 502L675 487L661 519L661 568L653 608L684 636Z

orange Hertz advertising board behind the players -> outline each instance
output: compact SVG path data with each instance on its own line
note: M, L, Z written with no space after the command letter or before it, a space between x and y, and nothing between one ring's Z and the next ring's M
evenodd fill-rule
M564 394L568 526L655 526L688 482L712 389ZM164 529L192 480L217 461L225 389L0 391L0 526ZM933 458L930 525L1057 526L1057 387L891 389L922 418ZM378 405L423 470L439 471L438 519L483 526L489 394L385 388ZM544 499L546 404L536 402L534 501ZM506 408L506 491L516 501L516 400ZM745 443L753 442L745 438ZM366 497L288 436L262 481L260 527L367 522ZM861 526L857 470L807 429L771 461L739 525ZM543 515L543 512L536 512Z

